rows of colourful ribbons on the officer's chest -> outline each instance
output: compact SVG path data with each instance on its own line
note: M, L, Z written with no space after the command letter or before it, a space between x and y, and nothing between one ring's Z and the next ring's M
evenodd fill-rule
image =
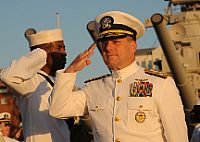
M131 97L152 97L153 84L148 79L136 79L130 85Z

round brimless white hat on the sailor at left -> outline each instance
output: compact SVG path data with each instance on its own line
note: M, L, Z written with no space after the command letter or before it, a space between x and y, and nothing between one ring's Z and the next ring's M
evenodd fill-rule
M63 40L61 29L44 30L26 35L29 47Z

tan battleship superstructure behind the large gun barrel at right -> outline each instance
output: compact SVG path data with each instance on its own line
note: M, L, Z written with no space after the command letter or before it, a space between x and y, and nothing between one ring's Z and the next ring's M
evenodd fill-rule
M200 98L200 0L165 1L169 4L163 16L170 37L186 77L194 89L193 95ZM146 28L153 27L150 18L145 19L144 24ZM137 50L136 61L145 68L171 72L159 47Z

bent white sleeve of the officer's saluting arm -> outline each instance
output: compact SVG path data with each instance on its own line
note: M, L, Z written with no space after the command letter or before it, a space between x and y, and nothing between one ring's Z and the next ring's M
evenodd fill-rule
M75 80L76 73L57 71L49 108L51 116L64 119L87 114L86 94L73 91Z

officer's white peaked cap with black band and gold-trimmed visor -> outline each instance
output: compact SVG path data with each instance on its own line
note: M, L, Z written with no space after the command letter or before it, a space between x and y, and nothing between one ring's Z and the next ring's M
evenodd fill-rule
M127 35L135 40L145 31L143 23L136 17L121 11L109 11L98 15L95 21L100 24L99 40L120 38Z

